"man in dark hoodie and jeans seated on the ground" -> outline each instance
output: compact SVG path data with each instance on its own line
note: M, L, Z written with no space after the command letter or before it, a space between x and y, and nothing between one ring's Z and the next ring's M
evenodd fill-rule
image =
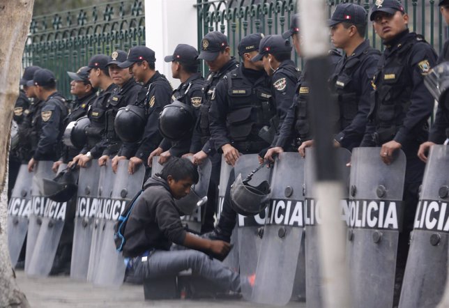
M160 174L144 184L146 189L132 208L124 232L123 256L132 280L174 276L192 269L226 291L239 291L241 283L250 283L248 277L241 282L238 273L212 258L225 259L229 243L199 238L183 229L175 199L189 194L198 179L197 167L190 160L172 157ZM188 249L171 250L172 243Z

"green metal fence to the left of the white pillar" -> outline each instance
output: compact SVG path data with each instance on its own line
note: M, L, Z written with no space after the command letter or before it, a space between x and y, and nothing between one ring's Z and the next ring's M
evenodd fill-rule
M145 44L144 1L110 1L79 10L34 17L23 66L52 70L59 91L70 98L67 71L86 66L93 54L128 51Z

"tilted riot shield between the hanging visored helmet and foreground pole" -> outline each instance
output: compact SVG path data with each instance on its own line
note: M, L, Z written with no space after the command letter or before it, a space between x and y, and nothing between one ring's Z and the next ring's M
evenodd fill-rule
M304 160L282 153L271 178L271 201L261 240L252 300L284 306L289 302L303 239Z

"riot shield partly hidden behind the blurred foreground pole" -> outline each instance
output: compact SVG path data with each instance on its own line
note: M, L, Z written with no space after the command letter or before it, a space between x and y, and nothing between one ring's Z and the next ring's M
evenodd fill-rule
M304 165L305 195L305 305L306 307L323 307L321 295L321 272L319 265L319 234L321 223L321 204L317 203L313 190L315 182L314 148L307 148ZM346 164L351 161L351 153L345 148L337 148L337 159L344 182L344 196L341 201L342 220L347 220L347 197L350 168ZM356 306L354 306L356 307Z

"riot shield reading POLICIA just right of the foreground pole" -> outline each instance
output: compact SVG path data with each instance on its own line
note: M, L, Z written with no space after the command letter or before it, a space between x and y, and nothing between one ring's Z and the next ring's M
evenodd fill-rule
M381 148L355 148L351 157L347 260L353 307L391 307L402 224L406 157L384 164Z

